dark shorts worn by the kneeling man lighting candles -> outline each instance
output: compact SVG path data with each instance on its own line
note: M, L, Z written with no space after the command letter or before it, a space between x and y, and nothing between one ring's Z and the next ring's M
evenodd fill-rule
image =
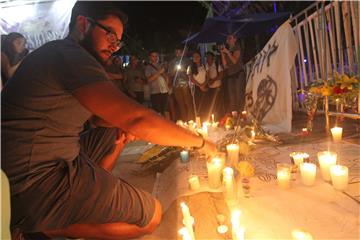
M12 196L12 229L38 232L71 224L126 222L147 225L154 198L97 165L114 149L114 128L96 128L81 137L72 162L44 163L42 180Z

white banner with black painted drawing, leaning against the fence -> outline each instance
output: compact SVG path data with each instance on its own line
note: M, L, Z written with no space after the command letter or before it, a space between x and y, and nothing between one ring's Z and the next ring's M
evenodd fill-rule
M247 64L247 111L275 133L291 131L290 69L296 53L297 40L287 21Z

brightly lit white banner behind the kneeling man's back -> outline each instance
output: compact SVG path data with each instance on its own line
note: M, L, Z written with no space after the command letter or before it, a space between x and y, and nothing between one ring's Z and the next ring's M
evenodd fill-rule
M75 2L76 0L5 1L0 4L1 34L23 34L29 50L46 42L62 39L67 35Z

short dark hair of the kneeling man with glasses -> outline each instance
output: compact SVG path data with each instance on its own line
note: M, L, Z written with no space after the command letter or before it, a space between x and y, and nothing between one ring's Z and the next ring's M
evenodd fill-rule
M79 15L90 17L95 21L102 20L107 18L109 15L113 15L118 17L124 26L128 20L127 15L122 12L118 7L116 7L112 2L77 1L71 12L71 19L69 24L70 32L74 28L76 18Z

